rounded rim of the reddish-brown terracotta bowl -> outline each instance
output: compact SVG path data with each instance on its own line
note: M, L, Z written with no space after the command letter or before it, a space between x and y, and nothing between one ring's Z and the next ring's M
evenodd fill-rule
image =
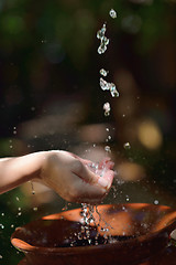
M113 208L113 206L155 206L155 208L164 208L165 210L173 210L172 213L175 213L175 219L173 219L172 223L168 222L168 225L166 224L163 229L160 229L155 232L148 233L148 234L144 234L144 235L139 235L138 237L134 239L129 239L125 241L118 241L116 243L108 243L108 244L100 244L100 245L88 245L88 246L68 246L68 247L47 247L47 246L34 246L34 245L30 245L29 243L26 243L25 241L22 241L20 239L15 239L15 234L18 233L19 230L25 227L25 225L16 227L15 231L12 233L11 235L11 243L12 245L22 251L23 253L29 253L29 252L33 252L33 253L38 253L38 254L45 254L47 253L47 255L50 254L57 254L57 255L64 255L65 253L68 254L79 254L79 253L88 253L88 252L98 252L98 251L102 251L102 248L109 250L109 248L122 248L122 246L127 246L127 245L141 245L143 243L147 243L151 242L152 240L156 239L158 235L167 233L168 235L170 234L170 232L176 229L176 209L173 209L170 206L167 205L155 205L155 204L151 204L151 203L118 203L118 204L102 204L102 205L98 205L99 208ZM78 208L79 209L79 208ZM74 212L77 211L78 209L74 209L74 210L69 210L69 211L65 211L67 213L69 212ZM62 214L64 214L65 212L59 212L59 213L54 213L54 214L50 214L46 216L43 216L38 220L48 220L48 218L54 219L54 216L62 216ZM57 218L58 219L58 218ZM36 221L38 221L36 220ZM30 223L33 223L35 221L32 221Z

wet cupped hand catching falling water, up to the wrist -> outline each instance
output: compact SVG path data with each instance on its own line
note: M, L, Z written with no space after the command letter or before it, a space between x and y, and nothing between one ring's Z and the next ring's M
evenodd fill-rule
M109 158L96 165L67 151L50 151L41 181L69 202L98 203L111 188L112 168Z

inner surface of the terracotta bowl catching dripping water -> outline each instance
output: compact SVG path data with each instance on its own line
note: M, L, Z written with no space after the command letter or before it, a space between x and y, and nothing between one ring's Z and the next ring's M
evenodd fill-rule
M133 239L147 239L162 231L168 233L175 227L176 211L164 205L144 203L99 205L94 213L95 222L88 231L92 244L99 233L99 243L105 244L105 234L111 235L114 242ZM84 240L78 239L82 226L80 209L44 216L19 227L11 241L15 247L19 242L35 247L81 246ZM108 231L103 231L108 229ZM22 246L20 247L22 248Z

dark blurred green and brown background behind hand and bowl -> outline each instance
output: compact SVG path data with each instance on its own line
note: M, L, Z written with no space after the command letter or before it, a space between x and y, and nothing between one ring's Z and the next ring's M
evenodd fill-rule
M110 44L99 55L105 21ZM117 178L105 203L174 206L175 29L175 0L1 0L0 156L64 149L94 160L109 145ZM119 98L101 91L102 67ZM48 189L34 190L26 183L0 195L0 264L23 256L10 244L16 226L65 205Z

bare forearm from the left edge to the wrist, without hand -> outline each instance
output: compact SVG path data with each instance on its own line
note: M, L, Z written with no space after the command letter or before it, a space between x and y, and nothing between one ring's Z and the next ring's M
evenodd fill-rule
M47 152L34 152L23 157L0 159L0 193L32 179L40 179Z

